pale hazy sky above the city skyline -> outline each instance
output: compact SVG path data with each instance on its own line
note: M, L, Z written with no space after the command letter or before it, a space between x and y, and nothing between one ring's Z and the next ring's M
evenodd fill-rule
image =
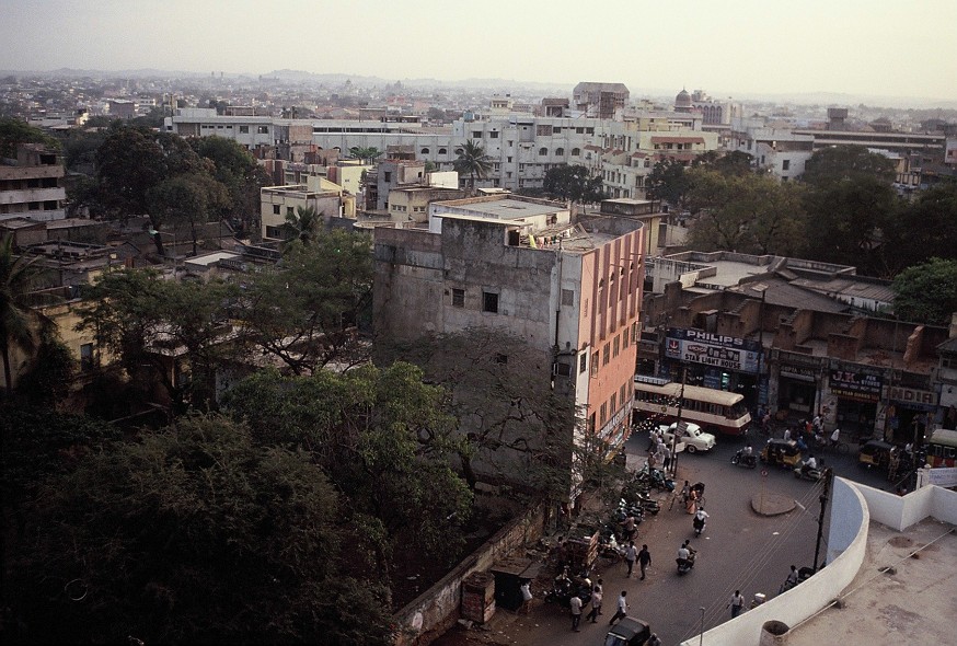
M0 69L957 100L957 0L0 0Z

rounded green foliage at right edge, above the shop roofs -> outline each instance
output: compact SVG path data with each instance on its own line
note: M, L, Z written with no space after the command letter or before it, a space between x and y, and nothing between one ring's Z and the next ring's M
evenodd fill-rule
M947 325L957 312L957 259L931 258L893 279L893 312L901 321Z

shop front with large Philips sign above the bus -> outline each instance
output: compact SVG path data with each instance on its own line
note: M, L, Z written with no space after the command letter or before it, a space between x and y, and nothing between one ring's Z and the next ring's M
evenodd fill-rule
M759 395L768 401L765 382L760 393L757 388L760 357L760 344L747 338L682 328L669 328L665 338L665 376L674 379L683 368L687 383L739 392L749 408Z

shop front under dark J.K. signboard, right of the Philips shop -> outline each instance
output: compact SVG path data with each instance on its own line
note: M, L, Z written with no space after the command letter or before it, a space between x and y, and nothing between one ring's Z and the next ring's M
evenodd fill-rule
M838 366L828 374L828 395L821 406L826 422L844 437L874 435L884 376L879 369Z

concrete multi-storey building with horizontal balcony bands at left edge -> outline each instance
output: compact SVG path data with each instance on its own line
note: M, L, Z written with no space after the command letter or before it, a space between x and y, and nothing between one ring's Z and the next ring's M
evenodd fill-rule
M67 217L64 201L62 158L39 143L21 143L15 160L0 164L0 220L62 220Z

